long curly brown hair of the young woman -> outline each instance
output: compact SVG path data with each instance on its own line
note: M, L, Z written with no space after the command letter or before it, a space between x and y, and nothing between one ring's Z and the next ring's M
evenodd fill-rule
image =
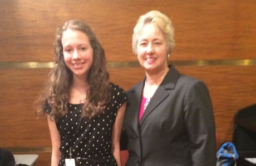
M104 111L107 103L110 101L109 72L106 69L106 57L104 49L96 38L92 29L80 20L69 20L58 29L56 41L54 44L55 64L50 72L50 78L46 83L45 92L38 100L39 106L37 114L43 115L44 107L48 102L51 106L50 115L57 120L67 115L69 89L73 81L73 74L67 68L63 58L63 46L61 43L63 32L67 29L80 30L90 39L93 49L93 62L86 80L88 80L89 89L85 92L86 102L82 107L82 117L95 117Z

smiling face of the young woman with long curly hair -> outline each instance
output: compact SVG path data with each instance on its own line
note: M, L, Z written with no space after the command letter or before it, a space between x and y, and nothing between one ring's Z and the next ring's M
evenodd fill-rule
M88 36L80 30L67 29L63 32L63 56L73 76L87 78L92 66L93 49Z

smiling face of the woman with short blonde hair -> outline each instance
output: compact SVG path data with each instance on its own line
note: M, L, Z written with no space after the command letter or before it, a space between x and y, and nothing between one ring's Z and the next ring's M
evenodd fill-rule
M167 44L164 34L154 24L146 24L137 42L137 58L146 72L161 72L168 68Z

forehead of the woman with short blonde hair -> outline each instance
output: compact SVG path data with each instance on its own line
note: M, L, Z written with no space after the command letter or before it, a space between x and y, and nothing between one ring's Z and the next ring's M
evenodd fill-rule
M155 24L145 24L139 34L139 40L160 39L164 40L164 34Z

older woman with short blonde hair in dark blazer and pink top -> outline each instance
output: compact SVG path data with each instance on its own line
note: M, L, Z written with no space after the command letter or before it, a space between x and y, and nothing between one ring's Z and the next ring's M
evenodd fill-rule
M142 15L132 48L146 77L128 92L126 165L216 165L215 122L204 82L168 66L174 48L171 20Z

